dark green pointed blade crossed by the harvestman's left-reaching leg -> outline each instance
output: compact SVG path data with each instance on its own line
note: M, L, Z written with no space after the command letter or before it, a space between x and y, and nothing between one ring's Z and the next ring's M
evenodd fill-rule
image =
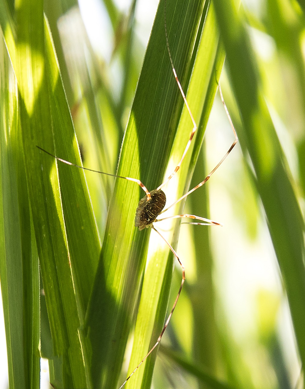
M77 140L47 24L45 24L45 39L49 60L47 71L55 151L61 158L80 165ZM49 158L47 155L42 156L43 159L47 157ZM65 229L70 256L73 258L71 261L73 282L78 291L79 309L83 315L87 310L100 242L83 171L62 163L58 165L58 170Z

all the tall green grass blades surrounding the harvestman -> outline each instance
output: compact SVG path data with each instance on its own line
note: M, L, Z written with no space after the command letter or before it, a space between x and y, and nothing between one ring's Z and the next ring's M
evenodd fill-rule
M68 17L76 23L77 11L71 11L69 2L61 5L66 19L60 19L59 31L71 32L73 39L73 25L64 23L68 23ZM66 52L66 61L63 60L64 44L61 46L56 27L61 15L56 13L58 7L38 0L0 2L4 39L0 65L0 277L11 388L39 387L39 347L41 355L49 359L50 382L54 387L116 387L125 379L125 372L120 377L121 365L134 324L129 372L156 342L169 295L171 301L177 294L180 273L177 277L174 273L172 293L169 290L173 257L168 247L153 235L154 231L150 234L149 230L138 231L134 227L135 209L144 192L122 179L97 177L93 173L85 178L83 170L56 163L36 148L39 145L80 165L74 122L87 167L115 173L119 160L117 174L139 178L149 190L156 188L180 159L192 124L170 67L164 1L156 14L121 145L125 109L133 93L129 88L137 80L133 51L137 46L133 44L135 5L132 2L126 22L112 2L105 2L116 31L113 57L117 56L123 64L121 91L116 95L109 85L106 64L101 65L86 39L83 62L73 65L73 56L69 58ZM284 7L293 15L293 28L288 23L291 19L283 16ZM250 11L241 9L238 14L229 0L167 0L166 24L173 63L199 126L179 173L166 186L166 195L176 199L190 185L226 53L238 109L228 93L225 97L256 188L249 189L249 197L255 203L257 191L265 209L303 361L303 217L295 195L296 184L264 102L259 72L256 65L251 65L257 56L250 49L241 20L247 16L248 23L272 35L278 49L289 53L301 80L303 59L296 55L300 45L292 44L294 40L288 38L284 40L284 36L293 35L291 31L301 36L303 14L296 3L282 5L276 0L267 2L265 12L268 17L262 27ZM219 43L216 19L224 48ZM276 28L279 22L285 27L282 31ZM81 22L78 29L85 31ZM61 41L64 42L63 35ZM80 47L76 42L75 49ZM300 86L303 91L302 82ZM304 177L303 139L298 144L300 177ZM202 166L200 157L194 173L198 182L206 175ZM206 217L208 206L203 200L208 196L204 187L200 190L189 200L189 207ZM299 190L303 190L301 186ZM196 196L198 202L194 200ZM183 204L178 204L175 212L182 213L182 208ZM256 210L251 214L249 205L243 209L246 214L249 212L248 219L254 214L256 220ZM169 233L165 231L174 247L179 227L176 223ZM200 387L227 387L215 379L217 375L232 386L257 387L242 352L237 351L232 335L226 333L226 325L222 327L215 318L218 299L212 283L208 234L201 227L194 230L198 279L188 279L191 272L186 268L187 283L179 300L183 309L176 313L172 329L168 329L168 339L176 343L179 355L166 348L160 354L166 356L165 361L174 361L188 371L191 382L198 380ZM186 245L187 257L191 257L191 244ZM181 335L182 319L191 322L191 334ZM270 324L271 335L265 335L265 343L269 342L266 349L269 347L270 354L278 353L283 363L274 328ZM187 343L186 338L192 342L188 350L182 344ZM156 352L126 387L151 387L155 359ZM193 361L190 363L189 359ZM276 361L279 363L279 359ZM279 383L278 372L285 373L287 367L277 370L276 361L270 366ZM155 385L164 387L164 378L158 374Z

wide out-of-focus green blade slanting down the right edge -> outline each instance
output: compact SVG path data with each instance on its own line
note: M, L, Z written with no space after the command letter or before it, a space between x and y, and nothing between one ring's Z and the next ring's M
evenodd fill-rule
M286 157L260 90L246 30L234 2L214 0L214 4L224 40L230 82L242 119L238 135L244 155L249 154L251 158L251 175L265 210L304 365L304 221Z

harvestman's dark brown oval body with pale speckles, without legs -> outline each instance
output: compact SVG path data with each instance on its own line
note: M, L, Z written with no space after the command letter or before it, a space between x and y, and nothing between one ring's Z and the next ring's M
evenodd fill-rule
M147 201L147 196L143 197L139 201L139 205L135 212L135 227L139 227L139 230L143 230L145 227L149 227L156 217L159 216L163 210L166 202L166 196L161 189L151 191L151 199Z

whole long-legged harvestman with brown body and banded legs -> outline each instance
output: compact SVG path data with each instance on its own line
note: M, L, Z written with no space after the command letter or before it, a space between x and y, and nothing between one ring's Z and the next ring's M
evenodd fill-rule
M143 191L145 192L146 196L144 196L140 202L139 202L139 205L137 207L137 210L136 210L136 213L135 213L135 227L138 227L139 230L143 230L144 228L149 228L151 227L152 230L156 231L156 233L158 233L160 235L160 237L165 241L165 243L168 245L168 247L170 248L170 250L172 251L173 255L177 258L178 262L179 262L179 265L181 266L181 269L182 269L182 280L181 280L181 284L180 284L180 288L179 288L179 291L178 291L178 294L177 294L177 297L175 299L175 302L173 304L173 307L172 307L172 310L170 311L170 314L168 315L168 318L163 326L163 329L158 337L158 340L156 341L156 343L154 344L154 346L149 350L149 352L146 354L146 356L142 359L142 361L137 365L137 367L132 371L132 373L130 373L130 375L126 378L126 380L123 382L123 384L120 386L119 389L123 388L123 386L126 384L126 382L129 380L129 378L133 375L133 373L135 373L135 371L138 370L138 368L141 366L141 364L146 360L146 358L152 353L152 351L158 346L158 344L161 342L161 338L168 326L168 323L170 322L170 319L172 317L172 314L173 314L173 311L177 305L177 302L178 302L178 299L179 299L179 296L180 296L180 293L181 293L181 290L182 290L182 287L183 287L183 284L184 284L184 281L185 281L185 270L184 270L184 266L182 264L182 262L180 261L177 253L175 252L175 250L173 249L173 247L170 245L170 243L163 237L163 235L161 235L161 233L156 230L156 228L154 228L154 225L153 223L156 223L158 221L163 221L165 219L174 219L174 218L182 218L182 217L186 217L186 218L190 218L190 219L196 219L196 220L200 220L201 222L203 223L192 223L192 224L200 224L200 225L212 225L212 224L216 224L216 225L221 225L220 223L217 223L215 221L212 221L212 220L209 220L209 219L206 219L204 217L199 217L199 216L196 216L196 215L190 215L190 214L182 214L182 215L175 215L175 216L169 216L169 217L164 217L162 219L157 219L157 217L160 215L160 214L163 214L163 212L167 211L168 209L170 209L171 207L173 207L173 205L177 204L178 202L180 202L182 199L184 199L185 197L187 197L190 193L194 192L196 189L198 189L199 187L203 186L206 181L208 181L208 179L210 179L211 175L215 172L215 170L217 170L217 168L222 164L222 162L225 160L225 158L227 158L227 156L229 155L229 153L231 152L231 150L233 149L233 147L236 145L237 143L237 135L236 135L236 131L234 129L234 125L232 123L232 120L230 118L230 114L229 114L229 111L227 110L227 106L225 105L225 102L224 102L224 97L222 95L222 90L220 88L220 85L218 84L218 89L219 89L219 93L220 93L220 98L222 100L222 103L224 105L224 108L225 108L225 112L227 114L227 117L229 119L229 122L230 122L230 125L232 127L232 130L233 130L233 133L234 133L234 142L232 143L232 145L230 146L229 150L225 153L225 155L223 156L223 158L218 162L218 164L215 166L215 168L213 168L213 170L211 170L211 172L205 177L205 179L201 182L199 182L198 185L196 185L195 187L193 187L191 190L189 190L187 193L185 193L183 196L181 196L180 198L178 198L178 200L176 200L174 203L172 203L169 207L167 207L166 209L163 209L165 207L165 202L166 202L166 196L165 196L165 193L161 190L161 188L163 188L163 186L165 186L165 184L168 183L168 181L170 179L172 179L172 177L177 173L177 171L179 170L181 164L182 164L182 161L184 160L184 157L185 157L185 154L187 153L190 145L191 145L191 142L192 142L192 138L197 130L197 124L194 120L194 117L192 115L192 112L191 112L191 109L189 108L189 104L187 103L187 100L186 100L186 97L185 97L185 94L184 94L184 91L182 89L182 86L180 84L180 81L178 80L178 77L177 77L177 74L176 74L176 70L174 68L174 65L173 65L173 60L172 60L172 56L170 54L170 47L169 47L169 44L168 44L168 33L167 33L167 27L166 27L166 0L165 0L165 6L164 6L164 25L165 25L165 38L166 38L166 47L167 47L167 50L168 50L168 55L169 55L169 58L170 58L170 63L171 63L171 66L172 66L172 70L173 70L173 74L175 76L175 80L178 84L178 88L180 90L180 93L182 95L182 98L184 100L184 104L187 108L187 111L189 112L189 116L191 117L191 121L192 121L192 124L193 124L193 128L192 128L192 132L191 132L191 136L187 142L187 145L185 146L185 149L184 149L184 152L182 154L182 157L180 159L180 161L178 162L175 170L168 176L168 178L162 182L161 185L159 185L157 187L157 189L154 189L152 190L151 192L148 191L148 189L146 188L146 186L138 179L135 179L135 178L131 178L131 177L122 177L120 175L114 175L114 174L111 174L111 173L104 173L104 172L100 172L98 170L93 170L93 169L89 169L89 168L84 168L83 166L79 166L79 165L76 165L75 163L71 163L69 161L66 161L65 159L62 159L62 158L59 158L53 154L51 154L50 152L42 149L41 147L39 146L36 146L38 147L38 149L40 149L41 151L49 154L50 156L52 156L53 158L57 159L58 161L60 162L63 162L63 163L66 163L67 165L71 165L71 166L76 166L78 168L81 168L83 170L89 170L90 172L95 172L95 173L101 173L101 174L105 174L105 175L109 175L109 176L112 176L112 177L118 177L118 178L122 178L122 179L125 179L125 180L128 180L128 181L132 181L132 182L135 182L137 183L142 189Z

